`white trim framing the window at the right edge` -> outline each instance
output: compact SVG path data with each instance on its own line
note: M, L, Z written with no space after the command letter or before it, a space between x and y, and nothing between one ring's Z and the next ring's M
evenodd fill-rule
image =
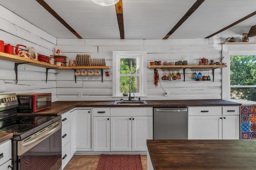
M256 44L222 45L223 63L227 68L222 69L222 99L230 99L230 55L256 55Z

